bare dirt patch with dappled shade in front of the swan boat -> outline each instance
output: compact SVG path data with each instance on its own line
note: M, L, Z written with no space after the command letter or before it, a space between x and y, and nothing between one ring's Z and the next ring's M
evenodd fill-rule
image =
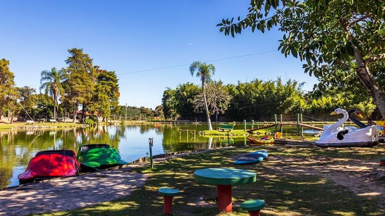
M324 157L303 160L271 156L268 161L266 167L280 174L323 176L333 180L337 185L349 188L358 196L385 198L385 168L378 166L378 160Z

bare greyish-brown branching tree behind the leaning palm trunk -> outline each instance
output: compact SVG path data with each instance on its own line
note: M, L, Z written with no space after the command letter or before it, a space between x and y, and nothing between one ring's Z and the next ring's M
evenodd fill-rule
M229 107L231 95L229 95L227 88L222 85L222 81L211 81L206 88L206 95L209 111L215 114L215 121L218 122L218 115L225 113ZM195 96L193 106L195 111L201 112L205 109L203 95Z

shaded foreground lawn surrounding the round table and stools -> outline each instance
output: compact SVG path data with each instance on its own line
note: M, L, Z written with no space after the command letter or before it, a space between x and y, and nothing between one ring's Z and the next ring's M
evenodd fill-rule
M357 196L348 188L336 186L332 181L306 171L300 174L282 172L281 168L288 164L272 163L273 158L280 157L306 161L309 157L317 156L322 158L357 156L364 160L375 160L380 153L385 153L382 150L383 146L376 147L375 149L378 151L371 153L352 152L352 149L266 147L265 150L272 158L270 161L265 160L258 164L244 166L233 164L234 158L239 155L260 149L263 148L258 148L258 146L238 147L171 158L155 163L152 171L148 169L148 166L137 169L137 172L148 173L150 177L143 187L126 198L92 207L42 215L160 216L162 215L162 198L153 187L171 187L181 190L181 194L174 198L173 212L176 216L247 216L248 213L239 208L239 204L248 199L266 201L266 207L261 211L262 216L384 215L378 198ZM194 170L211 167L242 168L257 173L256 183L233 187L232 213L218 213L215 186L203 185L194 181ZM203 201L199 199L201 197L203 197Z

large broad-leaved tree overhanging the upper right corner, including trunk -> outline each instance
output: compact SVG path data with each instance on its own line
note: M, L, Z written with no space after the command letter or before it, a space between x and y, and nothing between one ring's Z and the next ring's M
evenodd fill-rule
M263 33L279 25L284 35L278 49L285 56L306 61L305 73L316 77L352 68L385 116L384 86L378 84L384 77L384 1L252 0L248 10L238 22L223 19L219 31L234 37L245 28Z

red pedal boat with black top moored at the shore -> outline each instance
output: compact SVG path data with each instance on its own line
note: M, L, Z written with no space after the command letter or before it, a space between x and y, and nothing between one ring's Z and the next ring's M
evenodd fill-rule
M20 184L40 181L48 178L74 176L80 168L75 151L48 150L36 153L25 169L17 176Z

